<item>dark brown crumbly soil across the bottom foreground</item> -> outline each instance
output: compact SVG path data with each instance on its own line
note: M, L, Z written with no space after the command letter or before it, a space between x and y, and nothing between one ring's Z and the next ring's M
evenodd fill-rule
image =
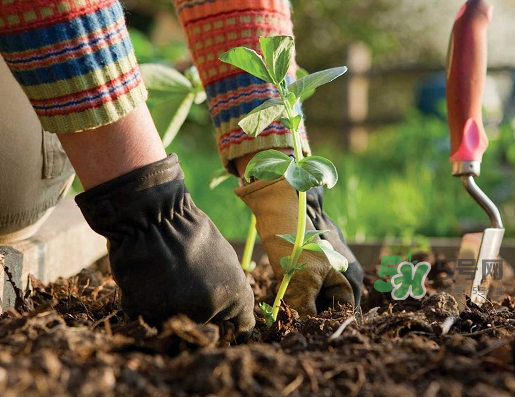
M0 318L0 396L515 395L515 299L459 313L436 293L435 272L425 298L400 302L373 289L375 274L365 280L362 319L340 336L348 307L307 319L285 308L270 330L258 320L240 346L185 316L160 330L129 321L98 271L33 279L30 295ZM274 287L265 264L248 277L257 299ZM503 287L513 294L513 278Z

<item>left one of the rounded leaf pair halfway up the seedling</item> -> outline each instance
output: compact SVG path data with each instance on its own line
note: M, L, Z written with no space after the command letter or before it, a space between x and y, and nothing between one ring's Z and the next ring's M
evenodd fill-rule
M265 181L280 178L288 169L293 159L278 150L265 150L256 154L247 165L245 179L254 176Z

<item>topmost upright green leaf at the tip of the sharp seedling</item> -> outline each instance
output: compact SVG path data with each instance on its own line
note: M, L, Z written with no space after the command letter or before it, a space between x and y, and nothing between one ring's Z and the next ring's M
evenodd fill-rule
M294 45L291 36L260 37L259 44L265 58L268 72L276 85L279 85L288 73L293 57Z

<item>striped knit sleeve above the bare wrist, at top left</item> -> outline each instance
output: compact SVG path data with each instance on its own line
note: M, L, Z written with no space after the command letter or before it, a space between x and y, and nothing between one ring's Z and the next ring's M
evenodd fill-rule
M96 128L146 100L118 1L0 4L0 52L46 130Z

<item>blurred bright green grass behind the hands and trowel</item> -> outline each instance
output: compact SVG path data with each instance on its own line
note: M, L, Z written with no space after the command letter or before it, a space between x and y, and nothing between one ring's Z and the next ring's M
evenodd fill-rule
M186 183L197 203L229 239L243 240L250 213L233 193L236 178L209 189L211 172L220 168L209 125L203 131L188 121L169 150L179 154ZM309 128L309 126L308 126ZM488 225L484 211L451 176L447 124L435 117L410 112L397 125L383 127L370 138L363 153L338 149L317 137L316 154L331 159L339 173L337 185L326 190L326 212L347 238L367 239L417 236L458 237ZM514 184L506 153L513 130L504 126L490 142L478 185L499 206L506 235L513 236ZM212 145L208 145L212 141ZM198 142L198 143L197 143Z

